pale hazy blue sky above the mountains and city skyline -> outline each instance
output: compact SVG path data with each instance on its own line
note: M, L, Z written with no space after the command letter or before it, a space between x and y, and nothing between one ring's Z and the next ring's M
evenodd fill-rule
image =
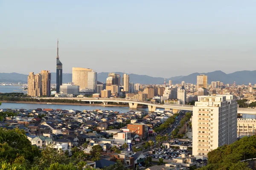
M0 0L0 72L255 70L256 0Z

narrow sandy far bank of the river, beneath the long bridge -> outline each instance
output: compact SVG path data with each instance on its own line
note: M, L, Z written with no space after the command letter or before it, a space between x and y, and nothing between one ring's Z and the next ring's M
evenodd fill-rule
M47 104L49 102L24 102L24 101L0 101L2 103L25 103L25 104ZM59 103L59 102L51 102L48 105L78 105L78 106L104 106L104 107L129 107L129 105L103 105L102 104L89 104L89 103ZM143 108L142 105L138 105L138 108Z

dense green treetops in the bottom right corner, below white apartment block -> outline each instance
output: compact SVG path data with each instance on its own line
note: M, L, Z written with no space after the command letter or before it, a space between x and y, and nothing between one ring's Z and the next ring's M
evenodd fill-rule
M256 158L256 136L243 137L207 154L209 164L200 170L250 170L244 159Z

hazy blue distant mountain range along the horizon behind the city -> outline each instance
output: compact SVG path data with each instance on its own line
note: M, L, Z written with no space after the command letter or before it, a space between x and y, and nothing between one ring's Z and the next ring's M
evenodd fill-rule
M123 73L116 72L123 76ZM186 83L196 84L196 79L199 74L205 74L208 76L208 83L212 81L221 81L224 84L234 83L236 84L245 84L249 82L256 84L256 71L236 71L234 73L226 74L222 71L213 71L209 73L193 73L187 76L176 76L166 79L166 84L169 83L169 80L172 80L173 84L181 83L185 81ZM106 82L108 77L107 72L98 73L98 81ZM18 73L0 73L0 82L27 82L27 75L18 74ZM64 73L63 74L63 83L72 82L72 74ZM130 82L140 83L140 84L163 84L164 78L162 77L150 77L147 75L138 75L130 74ZM52 73L52 83L56 83L56 73Z

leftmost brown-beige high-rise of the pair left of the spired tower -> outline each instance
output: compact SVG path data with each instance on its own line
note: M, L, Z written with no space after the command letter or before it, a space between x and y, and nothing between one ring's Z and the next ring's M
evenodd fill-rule
M41 96L41 75L30 72L28 75L28 95L31 97Z

